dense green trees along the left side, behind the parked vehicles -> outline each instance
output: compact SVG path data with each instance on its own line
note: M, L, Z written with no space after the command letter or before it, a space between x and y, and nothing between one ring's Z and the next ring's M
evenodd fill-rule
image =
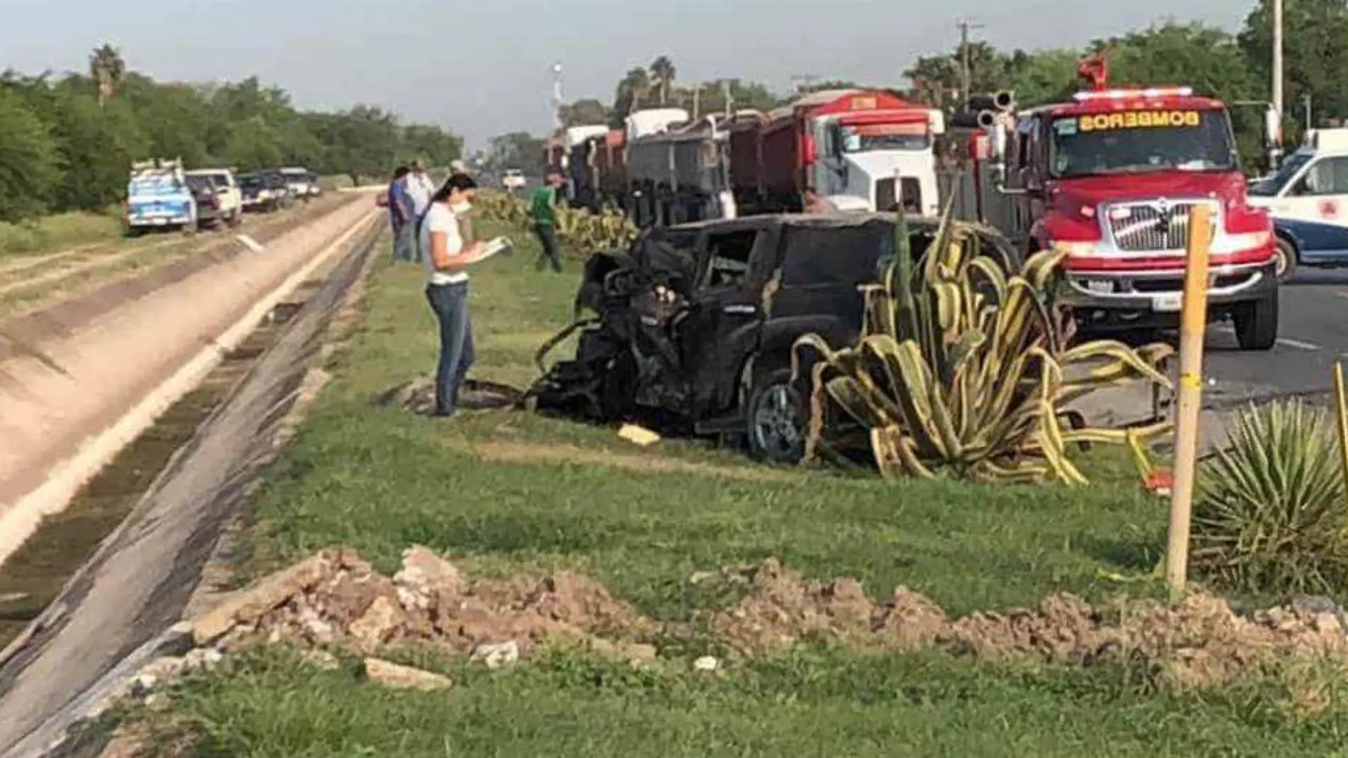
M0 74L0 221L120 201L133 160L182 158L240 171L305 166L318 174L383 176L398 162L445 166L462 140L403 124L380 108L295 108L256 77L228 83L156 82L102 46L88 73Z

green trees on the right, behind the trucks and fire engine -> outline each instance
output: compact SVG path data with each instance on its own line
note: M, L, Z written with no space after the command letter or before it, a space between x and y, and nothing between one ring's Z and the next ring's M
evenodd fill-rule
M1143 30L1096 39L1081 48L999 50L988 42L956 46L949 54L917 58L902 71L905 82L802 82L778 93L759 82L720 78L683 83L667 55L630 69L613 97L578 100L562 109L565 125L620 127L632 110L677 106L701 114L729 109L768 110L801 94L838 86L888 89L915 102L953 113L962 108L968 62L975 93L1014 90L1024 105L1051 102L1081 88L1076 63L1086 54L1108 51L1111 81L1117 85L1190 85L1231 105L1248 166L1259 164L1263 104L1271 98L1271 0L1259 0L1235 34L1201 24L1163 22ZM1283 0L1283 141L1295 144L1302 129L1348 118L1348 0ZM898 77L895 77L898 79ZM694 108L696 106L696 108ZM503 135L507 145L541 139ZM531 143L532 145L532 143ZM530 147L531 147L530 145ZM541 149L541 147L539 147Z

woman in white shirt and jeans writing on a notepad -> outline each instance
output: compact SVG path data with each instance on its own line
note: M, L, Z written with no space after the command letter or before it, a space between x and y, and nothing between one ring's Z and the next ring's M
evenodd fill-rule
M454 174L430 198L421 218L418 241L426 272L426 300L439 324L439 362L435 368L435 416L458 409L458 389L473 365L473 324L468 315L468 267L483 260L481 242L465 244L458 217L472 207L477 183Z

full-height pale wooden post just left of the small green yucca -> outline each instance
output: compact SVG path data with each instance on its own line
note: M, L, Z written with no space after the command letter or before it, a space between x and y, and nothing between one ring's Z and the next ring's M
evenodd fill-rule
M1180 306L1180 392L1175 412L1174 485L1170 489L1170 530L1166 540L1166 583L1178 596L1189 571L1189 521L1198 467L1198 411L1202 404L1202 341L1208 327L1208 252L1212 209L1193 206L1185 256L1184 300Z

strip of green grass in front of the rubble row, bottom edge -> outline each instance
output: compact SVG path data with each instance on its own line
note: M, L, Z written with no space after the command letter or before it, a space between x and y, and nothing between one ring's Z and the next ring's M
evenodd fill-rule
M1341 719L1291 722L1285 693L1105 688L1074 670L930 654L806 650L724 675L550 656L514 670L434 665L445 692L391 692L286 650L187 683L193 755L1007 757L1345 755ZM1341 689L1341 687L1340 687ZM166 742L163 727L158 742Z

